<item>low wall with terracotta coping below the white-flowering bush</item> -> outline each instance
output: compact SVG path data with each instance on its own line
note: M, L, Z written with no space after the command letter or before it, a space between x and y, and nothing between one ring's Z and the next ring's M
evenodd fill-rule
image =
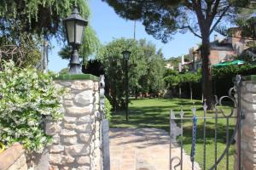
M1 170L27 170L25 150L15 144L0 154Z

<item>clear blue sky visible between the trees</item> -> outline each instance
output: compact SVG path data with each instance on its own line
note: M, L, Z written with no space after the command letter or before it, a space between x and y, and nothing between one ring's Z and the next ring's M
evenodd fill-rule
M89 5L91 10L90 26L96 31L102 44L111 42L114 38L133 37L134 21L120 18L119 15L115 14L113 8L109 7L107 3L102 3L102 0L89 0ZM146 38L148 41L153 42L156 48L162 48L166 59L188 54L189 48L201 42L201 39L187 32L186 34L177 33L173 36L172 41L165 44L148 35L144 26L138 21L136 32L137 39ZM58 56L61 45L55 40L53 40L52 44L55 47L49 52L49 70L61 71L62 68L67 67L68 61Z

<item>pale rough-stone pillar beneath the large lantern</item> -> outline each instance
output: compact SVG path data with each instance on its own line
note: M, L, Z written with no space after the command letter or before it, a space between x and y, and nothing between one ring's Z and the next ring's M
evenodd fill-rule
M61 99L61 122L47 122L46 133L53 135L49 146L49 169L100 169L99 86L93 80L57 80L65 88Z

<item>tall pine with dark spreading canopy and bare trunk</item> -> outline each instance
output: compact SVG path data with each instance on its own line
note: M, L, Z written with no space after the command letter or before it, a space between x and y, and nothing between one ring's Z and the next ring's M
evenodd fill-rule
M234 20L237 7L246 7L250 0L102 0L117 14L128 20L141 20L148 34L163 42L177 31L191 31L202 40L202 89L212 109L212 74L209 65L209 37L221 20Z

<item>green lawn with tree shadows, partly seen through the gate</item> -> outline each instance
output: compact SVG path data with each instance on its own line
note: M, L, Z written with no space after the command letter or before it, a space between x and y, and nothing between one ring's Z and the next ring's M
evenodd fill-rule
M203 109L200 100L195 100L196 115L203 116ZM192 102L189 99L131 99L129 106L129 122L125 121L125 112L113 113L110 127L155 127L169 131L170 110L180 111L183 108L184 116L192 116ZM224 113L229 113L230 106L222 106ZM220 114L220 113L219 113ZM214 114L207 114L214 117ZM234 129L234 120L230 118L230 137ZM180 126L180 123L177 122ZM207 163L209 169L214 164L214 119L207 120ZM183 122L183 148L186 153L190 153L192 141L192 120ZM197 122L195 161L200 166L203 165L203 120ZM226 119L218 119L218 157L226 147ZM234 145L230 146L229 168L233 169L234 164ZM167 158L166 158L167 159ZM218 164L218 169L226 169L226 156Z

